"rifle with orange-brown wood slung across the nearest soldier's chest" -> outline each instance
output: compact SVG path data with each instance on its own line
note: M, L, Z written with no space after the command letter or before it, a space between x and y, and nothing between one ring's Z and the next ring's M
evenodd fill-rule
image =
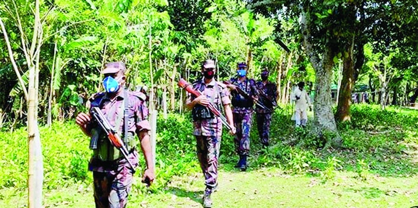
M123 143L122 139L119 137L119 135L116 134L115 130L110 125L108 119L106 119L105 115L103 115L102 111L98 107L93 107L91 114L93 118L97 121L97 123L100 125L102 130L106 133L108 136L110 143L115 146L123 155L126 161L128 161L129 165L132 167L132 171L135 172L135 169L129 161L128 158L128 150L126 149L125 144Z

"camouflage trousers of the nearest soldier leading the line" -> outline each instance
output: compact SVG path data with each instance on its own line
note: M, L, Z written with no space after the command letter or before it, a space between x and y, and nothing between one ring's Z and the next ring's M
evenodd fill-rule
M125 208L132 185L132 170L124 165L112 172L93 171L96 208Z

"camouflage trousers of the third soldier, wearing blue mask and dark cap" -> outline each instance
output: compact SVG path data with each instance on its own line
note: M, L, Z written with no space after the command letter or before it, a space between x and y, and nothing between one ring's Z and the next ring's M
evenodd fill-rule
M235 134L235 149L240 155L248 155L250 151L250 130L252 121L251 113L233 113L234 125L237 128Z

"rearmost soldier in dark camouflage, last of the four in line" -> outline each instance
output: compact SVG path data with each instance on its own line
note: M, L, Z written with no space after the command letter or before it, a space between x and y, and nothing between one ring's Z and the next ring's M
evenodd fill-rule
M257 82L257 88L260 93L260 101L268 110L256 106L257 129L264 147L268 146L271 115L274 106L276 106L277 87L268 81L268 71L261 72L261 81Z

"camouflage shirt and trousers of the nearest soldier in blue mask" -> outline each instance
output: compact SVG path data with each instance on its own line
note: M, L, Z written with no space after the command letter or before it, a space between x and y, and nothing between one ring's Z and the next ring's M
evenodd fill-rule
M127 96L127 98L125 98ZM144 95L140 92L122 90L113 100L108 94L97 93L90 98L91 108L99 107L115 131L124 139L129 151L128 158L133 166L138 166L138 152L135 132L151 130L147 121L148 109L144 105ZM125 102L128 102L127 138L124 137ZM91 110L90 108L90 110ZM90 143L93 156L88 163L88 170L93 171L94 201L96 208L124 208L132 185L134 170L122 154L110 144L96 122L89 124L92 138L98 137L97 145Z

